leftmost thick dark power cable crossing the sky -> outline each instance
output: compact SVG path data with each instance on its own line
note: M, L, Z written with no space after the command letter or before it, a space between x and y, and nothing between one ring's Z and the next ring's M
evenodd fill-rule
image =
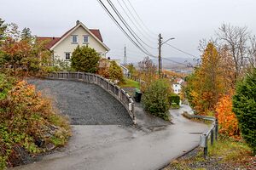
M144 54L148 55L147 51L144 51L143 48L141 48L137 42L135 42L130 36L129 34L124 30L124 28L122 26L120 26L119 22L113 17L113 14L111 14L111 12L108 10L108 8L106 7L106 5L104 3L102 3L102 0L97 0L98 3L101 4L102 8L107 12L108 16L111 18L111 20L113 20L113 22L115 23L116 26L119 27L119 29L125 34L126 37L128 37L128 39L139 49L141 50Z

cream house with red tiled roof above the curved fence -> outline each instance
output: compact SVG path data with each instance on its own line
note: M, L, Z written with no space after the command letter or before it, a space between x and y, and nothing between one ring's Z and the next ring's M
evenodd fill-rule
M109 48L103 43L101 32L97 29L88 29L77 20L73 26L61 37L37 37L38 41L48 41L46 48L53 52L53 59L69 61L73 50L77 46L87 45L94 48L101 57L106 57Z

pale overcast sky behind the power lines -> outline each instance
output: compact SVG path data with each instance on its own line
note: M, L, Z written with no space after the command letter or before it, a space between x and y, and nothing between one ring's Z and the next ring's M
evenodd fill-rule
M127 3L127 0L124 1ZM222 23L247 26L249 31L256 34L255 0L130 1L150 33L146 28L143 28L144 31L141 30L144 35L137 31L119 6L122 0L119 0L119 3L118 0L112 0L137 35L154 48L157 48L157 35L161 33L164 41L175 37L170 41L173 46L199 56L197 49L199 41L202 38L213 37L214 31L218 30ZM108 56L112 59L123 59L125 45L128 62L142 60L145 56L125 37L97 0L0 0L0 2L0 17L3 20L18 24L20 29L29 27L34 35L61 37L65 31L75 25L76 20L80 20L88 28L101 30L104 42L111 48ZM106 0L103 2L106 3ZM148 50L152 54L157 54L157 49L148 48ZM166 45L163 46L162 53L164 57L170 59L189 57Z

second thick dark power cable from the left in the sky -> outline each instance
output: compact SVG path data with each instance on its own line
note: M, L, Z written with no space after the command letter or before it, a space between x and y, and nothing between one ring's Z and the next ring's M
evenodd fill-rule
M140 40L141 42L143 42L143 44L145 44L146 46L148 46L148 48L153 48L153 47L149 46L146 42L144 42L144 41L142 40L142 38L140 38L140 37L137 36L137 33L136 33L135 31L133 31L133 30L131 29L131 26L129 26L129 25L127 24L127 22L125 21L125 19L123 18L123 16L119 13L118 9L115 8L115 6L114 6L113 3L111 2L111 0L107 0L107 1L108 1L108 4L110 5L110 7L113 8L113 12L119 17L119 20L121 20L121 22L124 24L124 26L126 27L126 29L131 33L131 36L134 37L134 38L137 40L137 42L141 45L141 47L142 47L145 51L148 52L148 50L143 47L143 45L139 42L139 40ZM138 39L139 39L139 40L138 40ZM148 54L150 54L150 53L148 52ZM152 55L152 54L151 54L151 55Z

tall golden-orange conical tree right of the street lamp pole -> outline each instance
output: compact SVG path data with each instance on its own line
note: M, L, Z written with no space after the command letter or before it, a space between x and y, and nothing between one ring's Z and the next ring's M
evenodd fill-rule
M221 58L217 48L209 42L201 56L201 65L189 77L186 92L189 102L201 114L214 111L220 94L224 93L224 77L219 69Z

